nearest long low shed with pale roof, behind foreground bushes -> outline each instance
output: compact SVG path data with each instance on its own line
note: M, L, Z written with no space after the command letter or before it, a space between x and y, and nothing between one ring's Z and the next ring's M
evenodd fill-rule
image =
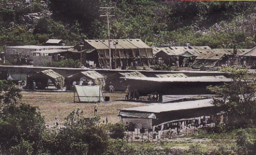
M188 124L189 120L209 117L217 114L218 109L212 104L213 99L182 101L175 103L153 104L143 107L120 109L120 121L124 124L141 124L143 128L151 129L153 126L162 125L161 130L172 122ZM204 120L205 121L205 120ZM210 120L208 120L210 121Z

